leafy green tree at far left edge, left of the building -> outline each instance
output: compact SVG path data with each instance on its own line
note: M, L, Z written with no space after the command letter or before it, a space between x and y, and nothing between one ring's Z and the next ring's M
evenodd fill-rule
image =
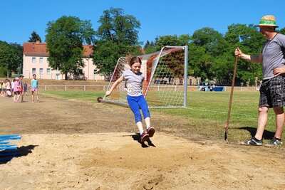
M0 68L3 74L9 77L11 71L16 71L21 68L23 51L19 44L9 44L0 41Z

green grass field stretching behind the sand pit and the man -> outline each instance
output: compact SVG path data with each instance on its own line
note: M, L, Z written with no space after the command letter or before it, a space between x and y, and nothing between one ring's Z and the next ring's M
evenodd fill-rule
M46 95L53 95L68 99L95 102L98 96L105 92L94 91L41 91ZM229 141L239 142L254 135L257 126L258 92L234 92L232 112L229 122ZM229 107L229 92L197 92L191 91L187 97L187 108L180 109L152 109L163 115L173 115L187 121L188 129L194 134L200 134L209 139L224 138L224 125L227 121ZM269 120L264 132L265 142L274 136L275 115L269 110Z

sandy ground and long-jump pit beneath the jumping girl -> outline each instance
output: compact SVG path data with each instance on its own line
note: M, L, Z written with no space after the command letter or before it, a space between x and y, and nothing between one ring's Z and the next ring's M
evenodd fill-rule
M28 99L0 97L0 134L22 135L20 155L0 164L0 189L285 189L279 149L185 139L170 132L185 121L157 114L142 144L127 108Z

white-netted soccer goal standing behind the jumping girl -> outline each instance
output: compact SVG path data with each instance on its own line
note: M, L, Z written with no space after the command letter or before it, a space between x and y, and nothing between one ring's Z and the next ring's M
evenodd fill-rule
M150 108L187 107L188 46L165 46L160 51L139 57L142 60L140 71L145 74L142 94L147 105ZM128 58L119 58L107 90L126 69L130 69ZM120 83L110 96L103 97L102 102L128 107L124 88L125 83Z

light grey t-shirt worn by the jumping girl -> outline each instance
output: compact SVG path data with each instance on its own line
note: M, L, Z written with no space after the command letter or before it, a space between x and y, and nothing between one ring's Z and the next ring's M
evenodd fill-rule
M130 96L142 95L142 82L145 80L143 73L135 74L132 70L124 70L123 77L125 78L125 89Z

